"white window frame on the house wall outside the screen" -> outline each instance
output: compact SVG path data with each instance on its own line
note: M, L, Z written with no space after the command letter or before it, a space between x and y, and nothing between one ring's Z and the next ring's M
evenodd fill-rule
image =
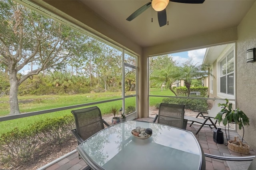
M228 54L230 54L230 52L234 52L234 57L233 57L233 62L234 62L234 71L231 73L226 73L226 76L229 74L234 74L234 95L232 94L225 94L220 92L220 62L222 62L222 60L224 60L225 58L227 58ZM227 84L227 81L226 81ZM227 90L227 88L226 88ZM230 44L228 45L225 50L223 50L223 52L220 54L220 56L217 59L217 96L219 98L229 98L229 99L235 99L236 98L236 48L235 48L235 44Z

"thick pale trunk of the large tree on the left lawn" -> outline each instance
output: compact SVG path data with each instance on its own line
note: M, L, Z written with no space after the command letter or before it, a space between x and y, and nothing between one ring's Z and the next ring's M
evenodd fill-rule
M18 80L16 77L16 72L9 72L10 81L10 114L20 114L19 104L18 104Z

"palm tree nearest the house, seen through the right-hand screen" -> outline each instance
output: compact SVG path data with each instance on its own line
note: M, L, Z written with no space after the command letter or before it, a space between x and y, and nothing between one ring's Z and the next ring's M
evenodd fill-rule
M184 79L184 84L188 88L188 96L190 95L192 79L201 78L207 74L202 68L202 65L194 64L192 60L188 60L183 64L183 67L180 67L180 78Z

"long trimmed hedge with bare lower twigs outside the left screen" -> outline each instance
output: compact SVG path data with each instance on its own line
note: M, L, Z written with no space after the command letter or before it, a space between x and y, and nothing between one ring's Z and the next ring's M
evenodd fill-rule
M14 128L0 136L0 160L9 165L24 164L33 158L44 143L61 144L72 136L70 130L74 128L71 114L38 121L22 130Z

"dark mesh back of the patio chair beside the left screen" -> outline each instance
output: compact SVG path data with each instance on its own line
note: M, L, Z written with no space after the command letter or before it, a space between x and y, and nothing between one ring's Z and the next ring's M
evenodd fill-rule
M100 109L97 106L72 110L75 117L76 131L83 140L104 129Z

